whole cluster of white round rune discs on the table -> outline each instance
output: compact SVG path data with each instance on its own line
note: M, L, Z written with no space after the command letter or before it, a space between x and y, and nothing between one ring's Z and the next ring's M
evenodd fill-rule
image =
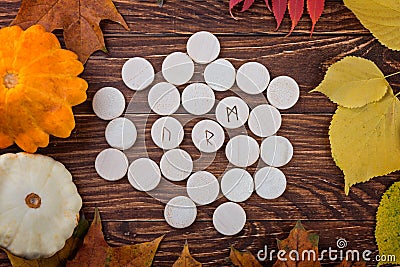
M296 81L288 76L271 81L268 69L258 62L244 63L236 71L227 59L217 59L219 53L217 37L202 31L189 38L186 53L174 52L164 59L162 75L165 81L153 85L147 94L151 110L163 116L151 127L154 144L166 151L159 164L149 158L139 158L129 165L122 151L134 145L137 129L132 121L120 117L125 110L122 93L113 87L100 89L93 98L93 110L99 118L110 120L105 137L112 148L98 154L95 168L99 176L108 181L119 180L128 173L130 184L145 192L154 190L162 177L172 182L187 179L187 196L170 199L164 209L166 222L175 228L190 226L196 219L197 206L214 202L222 192L229 202L216 208L213 224L221 234L235 235L246 223L246 212L238 202L246 201L254 191L261 198L275 199L286 189L285 174L278 167L291 160L293 146L287 138L276 135L282 122L279 109L294 106L300 91ZM181 93L176 86L191 80L195 64L207 64L203 72L205 83L191 83ZM154 78L154 68L144 58L131 58L122 68L125 85L134 91L146 90ZM178 148L184 139L183 126L170 115L181 103L192 115L209 113L216 104L215 93L230 90L235 82L247 95L262 94L266 90L269 104L250 110L244 99L225 97L216 105L216 121L203 119L193 127L192 142L203 153L215 153L224 144L224 128L236 129L246 123L248 129L263 141L259 145L248 135L230 138L225 155L235 168L226 171L218 180L208 171L193 172L191 155ZM259 158L267 166L252 176L245 168Z

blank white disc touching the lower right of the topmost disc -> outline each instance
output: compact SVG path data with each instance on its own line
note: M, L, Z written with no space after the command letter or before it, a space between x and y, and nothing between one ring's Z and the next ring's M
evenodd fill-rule
M211 62L204 70L204 80L215 91L229 90L235 83L235 78L235 67L223 58Z

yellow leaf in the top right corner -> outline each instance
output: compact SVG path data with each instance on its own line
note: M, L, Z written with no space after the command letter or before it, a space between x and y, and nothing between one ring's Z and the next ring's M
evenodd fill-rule
M399 0L345 0L362 25L393 50L400 50Z

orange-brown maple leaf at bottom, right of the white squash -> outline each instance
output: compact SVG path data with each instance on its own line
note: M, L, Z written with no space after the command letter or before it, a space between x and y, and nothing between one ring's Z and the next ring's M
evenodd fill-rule
M67 262L67 267L150 267L163 237L136 245L110 247L104 239L100 213L96 209L83 245L76 257Z

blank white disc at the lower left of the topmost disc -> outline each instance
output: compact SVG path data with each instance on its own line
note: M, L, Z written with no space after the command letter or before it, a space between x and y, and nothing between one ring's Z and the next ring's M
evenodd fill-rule
M194 63L182 52L169 54L163 61L162 74L167 82L182 85L190 81L194 73Z

